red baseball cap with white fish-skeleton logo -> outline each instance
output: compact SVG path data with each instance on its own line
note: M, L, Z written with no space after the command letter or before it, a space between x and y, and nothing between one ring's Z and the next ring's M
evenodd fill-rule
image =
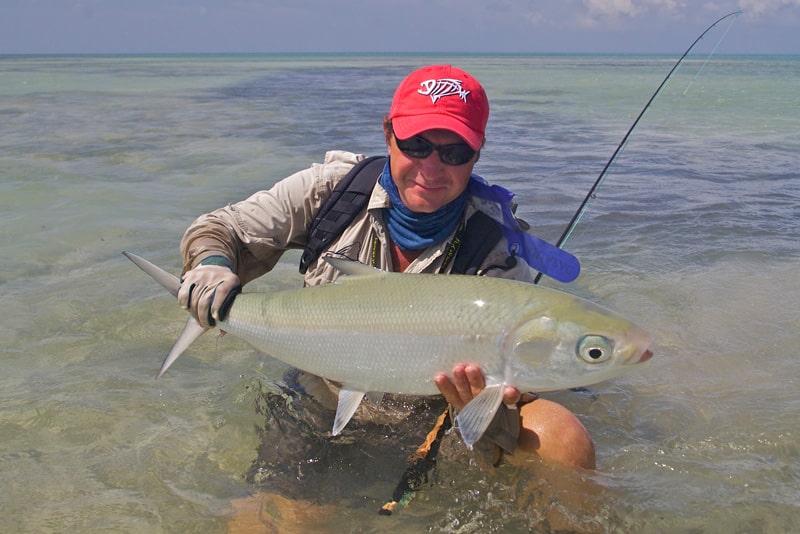
M489 121L489 100L470 74L452 65L430 65L415 70L397 87L389 120L400 139L443 129L479 150Z

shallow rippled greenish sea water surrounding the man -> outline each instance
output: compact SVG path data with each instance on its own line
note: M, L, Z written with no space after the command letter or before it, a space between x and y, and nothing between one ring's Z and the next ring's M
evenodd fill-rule
M2 530L225 530L253 489L254 405L277 366L209 336L154 382L184 316L120 252L177 271L196 215L326 149L382 152L394 86L441 60L492 101L476 171L553 241L674 62L0 57ZM551 396L598 448L592 484L563 475L576 485L561 516L605 530L800 525L800 64L723 56L694 79L701 61L650 109L567 246L583 273L565 289L657 337L641 371ZM295 287L296 262L256 287ZM524 476L495 476L445 465L402 514L376 518L376 492L331 528L471 532L541 513Z

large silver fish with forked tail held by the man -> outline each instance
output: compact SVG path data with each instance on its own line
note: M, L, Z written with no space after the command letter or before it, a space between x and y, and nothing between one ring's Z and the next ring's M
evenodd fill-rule
M124 253L173 295L180 281ZM456 418L468 446L506 386L551 391L614 377L652 356L651 336L589 301L482 276L387 273L326 258L334 284L238 295L219 328L289 365L339 382L338 434L365 395L434 395L434 377L479 364L487 387ZM158 376L205 330L190 318Z

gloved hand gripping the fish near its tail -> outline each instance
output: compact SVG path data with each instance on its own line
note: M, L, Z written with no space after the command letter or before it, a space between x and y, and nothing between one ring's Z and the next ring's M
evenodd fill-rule
M241 293L239 277L221 265L199 265L187 271L178 290L178 304L205 328L224 319L233 299Z

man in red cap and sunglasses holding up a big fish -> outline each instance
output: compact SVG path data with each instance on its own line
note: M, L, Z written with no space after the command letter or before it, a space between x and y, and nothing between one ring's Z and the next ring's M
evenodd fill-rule
M384 119L389 158L383 172L375 177L366 208L327 250L389 271L450 273L460 242L454 236L465 221L478 212L497 212L497 206L473 194L480 179L472 177L472 170L488 118L483 87L468 73L433 65L409 74ZM181 242L181 306L203 326L213 325L242 285L270 271L286 250L306 246L311 221L361 159L328 152L322 164L198 218ZM507 236L500 239L477 274L532 282L530 266L509 248ZM305 283L329 283L339 274L317 260L308 266ZM481 369L469 362L457 365L451 376L436 376L435 383L455 410L485 387ZM538 454L545 460L594 468L591 438L571 412L544 399L521 402L522 398L516 389L507 389L506 409L499 417L512 424L499 425L499 431L487 433L489 439L514 452L515 459ZM516 418L521 423L518 435Z

